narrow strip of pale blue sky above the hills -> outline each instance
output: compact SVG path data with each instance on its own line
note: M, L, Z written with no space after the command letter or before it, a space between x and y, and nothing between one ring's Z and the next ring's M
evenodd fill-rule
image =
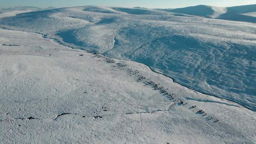
M0 0L0 7L4 8L13 6L70 7L85 5L177 8L199 4L228 7L256 4L256 0Z

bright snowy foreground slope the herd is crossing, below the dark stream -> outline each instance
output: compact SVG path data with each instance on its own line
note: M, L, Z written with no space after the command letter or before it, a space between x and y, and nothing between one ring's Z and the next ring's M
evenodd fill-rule
M255 112L113 60L0 29L1 143L256 143Z

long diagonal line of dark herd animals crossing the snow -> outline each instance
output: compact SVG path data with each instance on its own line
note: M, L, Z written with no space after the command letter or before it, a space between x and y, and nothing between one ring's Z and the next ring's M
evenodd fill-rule
M107 62L107 63L115 63L115 65L112 65L112 67L117 67L119 68L120 70L127 70L127 74L129 76L132 76L132 75L136 75L137 77L137 82L143 82L145 85L150 85L152 86L152 88L154 88L155 90L159 90L161 94L163 95L167 95L168 98L170 99L173 99L173 102L174 104L180 104L180 105L187 105L188 103L184 102L184 101L181 101L181 100L178 100L178 99L175 99L174 98L174 94L171 94L170 92L168 92L168 88L164 88L163 86L161 86L160 83L155 83L151 80L151 78L146 78L145 76L142 76L141 74L139 74L140 72L138 70L132 70L131 68L127 68L127 69L124 69L124 67L127 67L128 65L126 64L122 64L122 63L117 63L115 62L112 58L108 58L106 56L103 56L103 55L100 55L98 53L95 53L95 52L88 52L88 53L91 53L93 54L93 58L104 58L104 61ZM138 75L137 75L138 74ZM205 113L205 111L199 109L196 107L196 105L193 105L192 107L190 107L189 109L198 109L198 111L196 111L196 114L202 114L202 116L207 116L205 119L207 120L211 120L211 119L214 119L213 117L211 116L208 116L207 113ZM214 119L214 122L219 122L218 119Z

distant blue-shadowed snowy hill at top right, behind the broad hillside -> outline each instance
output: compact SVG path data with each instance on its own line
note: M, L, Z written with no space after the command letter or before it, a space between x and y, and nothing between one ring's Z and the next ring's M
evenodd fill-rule
M256 12L256 4L234 7L215 7L198 5L177 9L161 9L166 12L176 12L188 15L204 16L206 18L226 19L231 21L256 22L256 17L246 13Z

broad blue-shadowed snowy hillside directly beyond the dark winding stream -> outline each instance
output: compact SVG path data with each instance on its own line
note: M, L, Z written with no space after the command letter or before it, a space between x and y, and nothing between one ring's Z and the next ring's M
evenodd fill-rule
M189 88L256 110L255 24L149 11L69 7L3 18L0 25L142 62Z

